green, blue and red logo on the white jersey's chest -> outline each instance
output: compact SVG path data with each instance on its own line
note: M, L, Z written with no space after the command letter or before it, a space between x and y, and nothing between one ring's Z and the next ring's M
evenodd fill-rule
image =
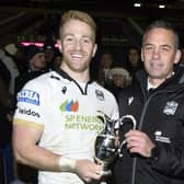
M79 102L78 101L68 101L66 100L61 105L60 105L60 111L61 112L78 112L79 111Z

